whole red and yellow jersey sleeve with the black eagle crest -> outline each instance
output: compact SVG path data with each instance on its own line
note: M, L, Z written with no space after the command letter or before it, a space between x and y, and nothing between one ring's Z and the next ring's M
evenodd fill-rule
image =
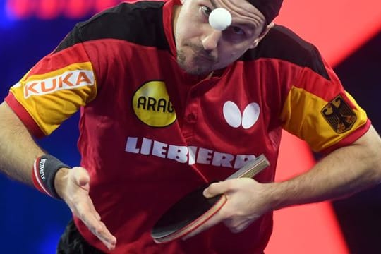
M286 131L306 140L313 151L326 153L360 138L370 120L317 49L308 59L315 67L302 68L289 84L281 119Z

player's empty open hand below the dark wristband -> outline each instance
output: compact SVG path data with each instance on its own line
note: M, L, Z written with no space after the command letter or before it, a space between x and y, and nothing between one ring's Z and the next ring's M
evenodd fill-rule
M83 167L59 169L54 179L54 186L75 217L78 217L109 250L114 250L116 238L95 210L89 195L90 176L86 169Z

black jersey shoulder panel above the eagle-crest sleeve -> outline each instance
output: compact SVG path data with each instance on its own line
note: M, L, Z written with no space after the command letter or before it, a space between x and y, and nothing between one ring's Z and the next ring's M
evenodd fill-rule
M258 47L248 50L241 60L253 61L261 58L279 59L301 67L308 67L330 80L317 48L282 25L275 25Z

